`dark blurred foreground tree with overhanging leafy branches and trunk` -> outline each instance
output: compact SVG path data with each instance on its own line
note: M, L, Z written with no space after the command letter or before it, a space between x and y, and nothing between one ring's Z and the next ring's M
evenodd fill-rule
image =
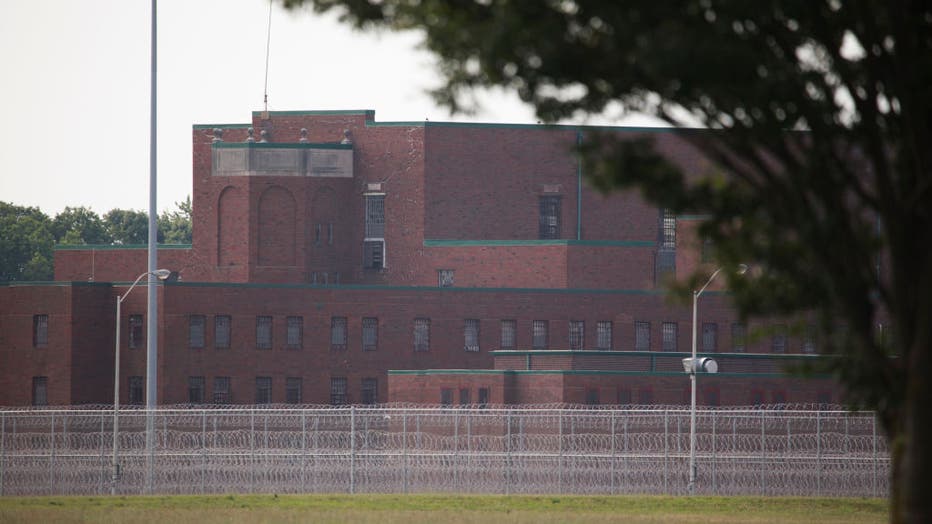
M681 136L717 172L684 176L648 140L590 133L582 149L599 187L705 215L719 262L766 267L729 282L739 312L819 314L834 373L891 440L891 519L932 521L932 5L307 2L357 27L422 31L451 110L497 86L547 122L620 109L708 128ZM841 340L832 323L847 326Z

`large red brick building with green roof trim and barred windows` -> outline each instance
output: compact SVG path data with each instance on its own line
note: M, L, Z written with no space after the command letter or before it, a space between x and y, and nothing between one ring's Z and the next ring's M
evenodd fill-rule
M651 133L687 173L709 161ZM253 113L193 128L190 246L162 246L160 403L665 403L685 398L697 217L589 188L587 128ZM63 247L55 281L0 286L0 405L110 403L115 298L144 246ZM145 288L122 306L121 398L142 402ZM783 375L812 341L752 340L702 296L707 403L832 402ZM774 355L773 353L779 353ZM704 388L704 389L702 389Z

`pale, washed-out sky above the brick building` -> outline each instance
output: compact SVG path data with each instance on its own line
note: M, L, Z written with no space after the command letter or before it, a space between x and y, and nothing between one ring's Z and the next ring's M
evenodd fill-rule
M0 0L0 201L149 206L150 2ZM191 126L263 108L268 0L158 2L158 208L191 194ZM450 116L414 33L361 33L335 16L272 8L272 111L371 109L378 121L534 123L516 96ZM599 117L585 123L648 125Z

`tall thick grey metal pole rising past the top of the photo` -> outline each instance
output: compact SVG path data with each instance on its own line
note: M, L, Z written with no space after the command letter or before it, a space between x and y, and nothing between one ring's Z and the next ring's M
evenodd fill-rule
M149 302L148 325L146 326L146 486L152 488L152 450L155 442L154 409L158 403L158 294L155 276L158 267L156 246L158 243L158 222L156 206L156 173L157 173L157 130L158 118L156 112L157 100L157 31L156 31L156 5L152 0L152 29L151 29L151 56L150 56L150 95L149 95Z

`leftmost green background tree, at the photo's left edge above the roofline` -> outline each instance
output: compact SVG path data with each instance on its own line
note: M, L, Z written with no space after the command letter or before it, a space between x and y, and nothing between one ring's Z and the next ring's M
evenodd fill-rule
M38 208L0 202L0 281L52 280L51 225Z

